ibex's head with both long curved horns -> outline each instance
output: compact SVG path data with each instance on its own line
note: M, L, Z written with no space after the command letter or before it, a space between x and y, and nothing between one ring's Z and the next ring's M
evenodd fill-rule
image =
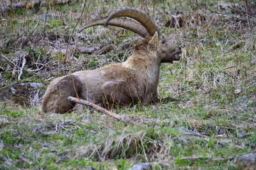
M121 19L118 17L130 17L138 22L129 19ZM156 24L154 24L154 22L147 15L145 15L145 13L140 12L139 10L132 8L116 10L109 17L88 22L83 29L99 25L123 27L142 36L143 38L152 36L148 42L148 45L150 46L150 50L156 50L157 56L161 60L161 63L172 63L173 61L180 59L180 47L172 42L168 42L168 40L161 35Z

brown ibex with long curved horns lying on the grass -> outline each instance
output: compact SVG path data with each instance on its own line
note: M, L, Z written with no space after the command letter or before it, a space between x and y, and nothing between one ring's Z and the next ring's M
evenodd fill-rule
M117 17L131 17L120 19ZM140 23L139 23L140 22ZM180 59L180 47L166 41L152 20L131 8L116 10L108 18L93 20L86 27L118 26L143 37L132 55L123 63L114 63L95 70L84 70L58 77L49 84L40 107L41 112L65 113L76 103L68 97L78 97L108 107L159 102L157 85L161 63Z

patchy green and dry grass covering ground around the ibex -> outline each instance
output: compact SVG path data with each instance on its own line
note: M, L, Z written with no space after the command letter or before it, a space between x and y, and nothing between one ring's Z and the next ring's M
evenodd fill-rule
M0 104L1 169L128 169L142 162L150 162L154 169L236 169L236 158L255 153L255 25L249 29L243 20L218 17L211 12L216 10L215 1L198 1L197 5L190 1L172 2L157 1L158 10L154 10L153 1L147 3L149 15L154 14L160 26L175 9L189 22L177 29L161 27L161 33L182 46L183 52L180 61L161 65L158 93L160 97L182 98L185 102L138 104L114 110L145 123L147 127L143 128L91 109L85 109L83 114L44 115L37 107ZM65 49L68 35L81 15L82 3L0 15L0 19L5 19L0 26L1 54L15 63L19 71L22 55L30 52L23 82L49 83L52 77L120 62L131 54L141 38L120 28L102 26L82 33L74 31L71 40L100 49L113 43L115 50L100 55L77 52L70 55L65 65L60 51L51 53L49 42L62 44L58 47ZM142 1L86 1L85 5L79 28L91 18L108 15L122 6L140 6L147 12ZM205 10L205 6L211 11ZM188 17L196 12L206 17L198 26ZM40 19L43 13L56 19L45 22ZM253 17L250 19L255 24ZM44 31L54 36L38 38ZM13 75L13 68L3 58L0 63L4 68L0 85L17 81L19 73ZM49 64L39 72L27 71L41 68L40 63ZM200 136L184 134L180 128ZM250 134L239 137L239 133Z

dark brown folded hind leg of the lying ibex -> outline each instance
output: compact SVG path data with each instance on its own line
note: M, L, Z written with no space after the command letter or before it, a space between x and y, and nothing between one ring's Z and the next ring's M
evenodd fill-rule
M68 100L68 97L79 97L82 84L75 75L67 75L52 81L44 95L41 111L66 113L72 111L75 102Z

